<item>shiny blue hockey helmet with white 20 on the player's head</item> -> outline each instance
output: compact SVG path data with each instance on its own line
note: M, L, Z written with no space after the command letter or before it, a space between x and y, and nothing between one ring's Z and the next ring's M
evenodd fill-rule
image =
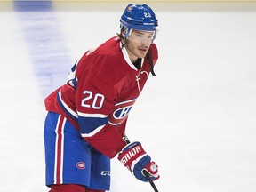
M120 20L121 28L154 31L158 20L153 10L147 4L128 4Z

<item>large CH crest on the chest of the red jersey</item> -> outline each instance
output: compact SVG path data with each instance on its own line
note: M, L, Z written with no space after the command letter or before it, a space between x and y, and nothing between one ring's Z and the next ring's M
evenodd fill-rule
M117 103L113 113L108 116L108 123L112 125L121 124L127 118L135 101L136 99Z

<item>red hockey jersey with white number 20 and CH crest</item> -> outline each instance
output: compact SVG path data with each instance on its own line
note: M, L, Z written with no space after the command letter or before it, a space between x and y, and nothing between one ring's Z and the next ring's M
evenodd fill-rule
M149 52L155 65L156 44ZM67 84L44 100L46 110L66 116L84 140L113 158L126 145L127 117L149 72L148 60L142 59L141 68L135 68L121 49L120 38L114 36L84 53L71 68Z

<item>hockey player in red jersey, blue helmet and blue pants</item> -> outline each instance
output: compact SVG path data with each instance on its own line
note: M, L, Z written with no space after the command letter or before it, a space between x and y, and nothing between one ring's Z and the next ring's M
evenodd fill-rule
M104 192L110 188L110 159L117 155L142 181L159 179L140 142L124 141L128 113L158 59L155 13L129 4L121 32L84 53L67 84L45 100L46 185L50 192Z

